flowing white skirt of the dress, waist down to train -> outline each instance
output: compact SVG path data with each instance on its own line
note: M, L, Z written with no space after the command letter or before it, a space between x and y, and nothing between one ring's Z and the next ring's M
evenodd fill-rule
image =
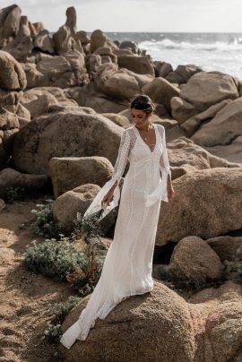
M120 196L114 238L109 246L99 281L91 293L79 319L62 335L60 342L70 349L75 340L86 340L96 318L108 313L126 297L153 289L152 258L160 214L160 200L144 204L147 178L137 177L133 183L131 170L125 176ZM160 176L152 177L160 182ZM145 185L144 185L145 184ZM154 185L150 185L153 189Z

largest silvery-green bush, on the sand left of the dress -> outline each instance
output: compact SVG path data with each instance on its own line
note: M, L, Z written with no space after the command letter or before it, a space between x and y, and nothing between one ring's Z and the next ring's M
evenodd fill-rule
M56 242L56 239L43 243L33 242L24 253L24 266L47 277L65 280L66 275L73 272L77 265L83 270L87 268L88 259L85 254L77 251L66 241Z

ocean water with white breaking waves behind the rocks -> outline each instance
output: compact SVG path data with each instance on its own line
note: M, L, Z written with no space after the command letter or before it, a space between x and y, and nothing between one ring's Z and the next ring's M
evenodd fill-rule
M242 33L106 32L113 40L133 40L153 60L198 65L242 80Z

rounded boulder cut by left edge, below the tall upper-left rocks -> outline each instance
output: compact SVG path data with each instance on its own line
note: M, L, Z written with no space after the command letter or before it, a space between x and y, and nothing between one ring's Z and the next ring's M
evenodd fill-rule
M27 85L22 66L9 53L0 50L0 88L24 90Z

